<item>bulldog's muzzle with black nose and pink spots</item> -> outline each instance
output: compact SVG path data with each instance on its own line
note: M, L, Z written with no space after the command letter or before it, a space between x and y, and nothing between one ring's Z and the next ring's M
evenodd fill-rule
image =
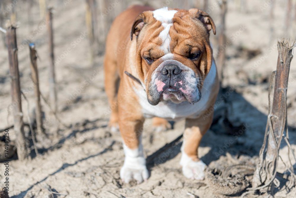
M200 100L200 89L194 71L177 60L166 60L153 72L148 89L148 101L157 105L160 101L179 103Z

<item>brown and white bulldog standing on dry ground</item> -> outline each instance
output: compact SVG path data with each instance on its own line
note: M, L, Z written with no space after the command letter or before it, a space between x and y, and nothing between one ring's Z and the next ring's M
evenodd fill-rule
M213 112L219 90L211 29L215 34L213 19L199 9L132 6L114 20L106 43L105 90L109 125L119 126L123 138L124 182L149 177L141 132L150 117L156 127L186 119L180 165L185 177L204 178L206 165L197 149L213 120L205 112Z

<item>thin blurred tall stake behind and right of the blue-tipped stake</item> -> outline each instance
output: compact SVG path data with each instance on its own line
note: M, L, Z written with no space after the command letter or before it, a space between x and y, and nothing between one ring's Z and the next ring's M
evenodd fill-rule
M57 90L54 69L54 39L52 29L52 8L47 9L46 23L49 36L49 98L54 112L57 112Z

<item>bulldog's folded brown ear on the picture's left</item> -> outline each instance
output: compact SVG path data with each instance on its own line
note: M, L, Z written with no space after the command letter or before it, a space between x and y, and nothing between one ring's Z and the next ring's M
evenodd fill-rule
M131 28L131 40L133 40L133 34L139 36L140 31L144 27L145 24L149 23L149 18L153 18L152 11L145 11L141 13L133 22L133 26Z

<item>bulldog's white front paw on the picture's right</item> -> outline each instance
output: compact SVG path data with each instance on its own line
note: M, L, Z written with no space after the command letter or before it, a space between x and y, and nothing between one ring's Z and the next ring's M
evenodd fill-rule
M204 180L205 179L205 163L201 160L199 162L190 162L185 166L182 166L183 175L189 179Z

